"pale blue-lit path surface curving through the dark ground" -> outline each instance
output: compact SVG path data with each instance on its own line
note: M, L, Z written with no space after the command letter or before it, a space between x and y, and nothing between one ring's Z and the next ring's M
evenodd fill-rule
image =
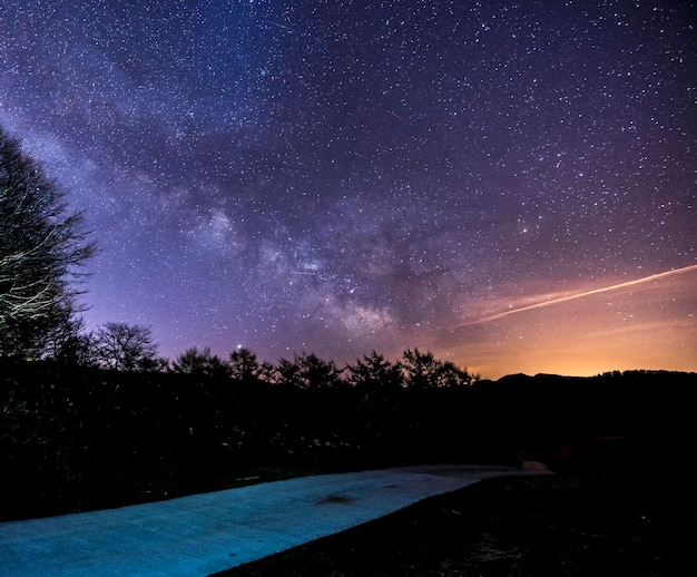
M401 467L6 522L0 524L0 575L205 576L481 479L539 472L489 466Z

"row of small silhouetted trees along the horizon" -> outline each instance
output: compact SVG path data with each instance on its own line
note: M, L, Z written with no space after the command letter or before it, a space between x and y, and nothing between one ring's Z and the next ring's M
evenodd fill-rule
M305 352L272 364L259 361L255 353L245 348L234 350L227 359L212 353L208 346L192 348L168 361L157 355L157 345L149 327L125 323L107 323L94 333L80 333L71 339L69 346L70 350L62 348L58 351L53 359L124 372L171 372L199 379L264 382L300 389L441 389L468 387L480 379L478 374L471 374L467 369L451 361L441 361L432 352L422 352L418 348L406 349L395 362L373 351L343 368L338 368L332 360Z

